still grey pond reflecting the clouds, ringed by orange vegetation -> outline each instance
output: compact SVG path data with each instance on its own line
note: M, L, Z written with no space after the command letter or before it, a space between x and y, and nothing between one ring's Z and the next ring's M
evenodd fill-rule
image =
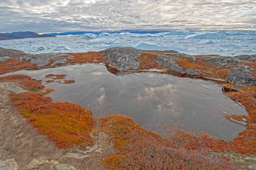
M199 129L221 139L232 139L245 127L223 114L246 111L210 81L180 78L157 73L113 75L104 65L69 65L38 71L18 71L42 79L46 74L67 74L73 84L49 83L54 101L77 102L93 110L96 118L109 113L130 115L146 130L164 134L163 124ZM164 128L163 128L164 127Z

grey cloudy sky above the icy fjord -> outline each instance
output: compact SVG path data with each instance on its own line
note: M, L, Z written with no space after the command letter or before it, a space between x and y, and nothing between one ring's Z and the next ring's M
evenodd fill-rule
M256 0L0 0L0 32L252 30Z

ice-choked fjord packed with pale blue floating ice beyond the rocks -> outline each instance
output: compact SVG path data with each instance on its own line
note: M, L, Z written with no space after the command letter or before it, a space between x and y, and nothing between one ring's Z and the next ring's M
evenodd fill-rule
M173 31L176 34L178 31ZM181 31L184 32L184 31ZM188 31L185 31L188 33ZM205 32L204 32L205 33ZM201 34L204 34L201 32ZM12 48L24 51L30 54L41 54L51 52L77 53L87 51L101 51L110 47L134 47L140 43L144 44L147 50L153 49L183 49L186 54L213 54L221 56L235 56L243 54L256 54L256 33L248 32L228 32L226 39L221 40L197 40L185 39L187 35L166 35L158 34L133 34L129 32L103 34L101 36L95 34L67 35L47 38L30 38L21 40L3 40L0 41L0 47ZM188 33L190 34L190 33ZM190 36L198 35L191 34ZM215 33L214 33L215 34ZM232 34L232 35L231 35ZM93 37L94 39L86 39L84 36ZM153 45L151 45L153 44ZM56 45L63 48L55 48ZM143 45L143 44L141 44ZM55 46L55 47L54 47ZM38 48L44 47L44 50ZM55 50L57 49L57 50ZM184 49L186 51L184 51ZM178 51L179 51L178 50Z

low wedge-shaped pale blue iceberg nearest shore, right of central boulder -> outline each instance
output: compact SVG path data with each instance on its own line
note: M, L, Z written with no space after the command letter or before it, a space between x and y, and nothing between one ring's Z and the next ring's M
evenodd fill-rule
M140 50L175 50L175 51L186 51L183 48L177 48L173 46L160 46L148 42L141 42L138 44L135 48L140 49Z

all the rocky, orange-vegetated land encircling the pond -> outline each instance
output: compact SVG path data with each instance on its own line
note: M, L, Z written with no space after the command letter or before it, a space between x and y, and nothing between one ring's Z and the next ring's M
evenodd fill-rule
M212 139L207 135L196 138L183 132L177 132L170 139L163 139L145 131L125 116L93 119L90 111L79 105L54 103L41 94L44 85L31 77L0 77L0 132L4 136L0 139L0 169L256 168L256 55L191 56L176 51L141 51L134 48L31 55L0 48L0 74L84 63L104 63L113 74L157 71L225 83L228 95L244 105L249 114L227 118L245 122L247 129L229 142ZM35 88L30 89L28 83L35 85ZM6 89L15 94L10 94ZM77 115L86 116L77 119ZM31 125L38 127L42 134L38 134ZM74 128L76 125L79 130ZM67 128L64 132L63 127ZM73 131L67 134L69 127ZM86 140L82 143L80 139Z

